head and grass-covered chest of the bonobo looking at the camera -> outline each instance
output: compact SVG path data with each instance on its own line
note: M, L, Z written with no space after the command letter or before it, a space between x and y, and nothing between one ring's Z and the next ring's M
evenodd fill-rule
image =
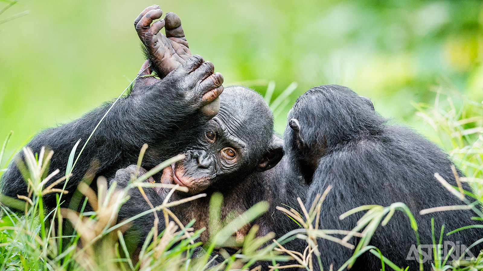
M207 122L197 142L186 147L185 159L165 168L160 178L163 183L179 184L189 190L187 194L176 192L173 199L200 192L208 194L206 198L172 208L184 224L196 219L195 229L209 226L209 201L213 192L218 191L224 195L221 210L224 219L229 213L241 215L260 201L273 203L280 187L285 187L281 168L264 173L282 159L283 141L273 136L272 115L263 98L253 90L234 86L225 88L220 100L219 113ZM111 182L116 181L117 187L124 188L130 174L134 172L135 166L121 169ZM281 178L276 179L275 176ZM165 191L158 190L159 194L156 194L154 189L144 190L153 205L163 202ZM129 194L128 203L120 210L120 219L132 217L150 208L139 190L131 189ZM292 198L296 199L296 196ZM287 204L289 200L286 200L284 203ZM258 234L273 230L272 213L267 212L253 221L253 224L260 226ZM162 213L158 217L162 217ZM153 227L153 221L153 214L146 215L139 218L133 228L141 230L142 237L145 237ZM239 232L240 238L248 232L250 225ZM164 223L159 224L159 227L162 230ZM207 241L207 234L208 230L202 233L201 241Z

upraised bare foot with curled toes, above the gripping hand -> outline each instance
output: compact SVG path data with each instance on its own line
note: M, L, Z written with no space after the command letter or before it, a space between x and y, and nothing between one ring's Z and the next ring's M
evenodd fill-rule
M154 20L161 18L162 14L159 6L153 5L144 9L134 20L138 36L155 66L153 69L160 78L164 78L191 57L188 41L181 27L181 19L174 13L168 13L164 19L153 23ZM163 27L166 36L159 33Z

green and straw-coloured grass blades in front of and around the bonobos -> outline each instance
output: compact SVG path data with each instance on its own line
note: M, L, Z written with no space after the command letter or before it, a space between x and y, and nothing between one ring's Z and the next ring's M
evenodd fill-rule
M297 84L290 84L282 92L282 95L271 102L271 109L277 112L278 108L286 107L285 97L290 95L296 87ZM265 97L267 102L272 100L271 94L274 88L275 84L270 82ZM125 91L121 95L124 93ZM464 97L458 97L458 103L455 103L451 96L443 95L442 91L438 91L433 105L414 104L414 106L418 109L417 115L434 128L435 134L441 138L443 145L451 150L451 156L456 162L460 163L460 168L466 173L467 177L458 177L458 182L469 182L474 188L474 194L461 191L458 187L449 186L437 173L435 173L435 178L440 181L442 186L452 191L455 197L469 195L475 197L478 200L477 203L481 203L483 199L483 114L481 114L483 105ZM92 134L95 131L94 129ZM6 137L2 145L0 161L2 161L4 150L11 135L12 132ZM85 148L86 144L88 144L88 140L82 149ZM52 179L57 179L54 184L68 181L71 172L75 170L76 161L82 153L81 149L81 153L74 160L77 148L78 142L72 147L65 176L57 176L58 170L47 175L49 160L55 155L52 151L42 149L40 153L34 154L28 148L22 150L26 157L25 162L16 161L16 164L28 183L28 197L19 196L18 199L13 199L0 195L0 202L2 203L0 205L2 212L0 221L0 270L250 270L254 267L254 269L258 268L256 267L257 261L266 260L272 263L270 266L272 270L297 267L312 271L313 263L320 264L321 255L328 253L318 250L316 246L317 238L326 238L354 249L354 256L342 268L351 267L356 257L369 251L375 257L381 259L382 270L404 270L404 267L398 267L392 263L390 256L384 256L378 248L369 245L370 238L377 227L388 223L393 214L398 211L402 211L410 217L412 229L418 236L417 224L413 214L403 203L393 203L390 206L360 206L342 214L341 219L357 212L366 212L352 231L318 229L321 204L323 204L327 193L330 192L330 187L328 187L323 195L316 197L309 210L306 210L304 204L299 200L302 214L298 214L289 206L277 207L278 211L287 214L287 219L297 221L300 229L287 232L278 240L274 240L273 233L256 237L258 226L255 225L241 244L236 242L233 235L246 223L266 212L268 209L267 203L257 203L242 216L231 221L220 221L217 214L220 212L223 199L220 194L214 194L210 202L212 217L210 229L218 230L209 232L210 242L200 244L197 240L205 229L193 229L194 221L191 221L188 225L181 224L169 208L204 197L206 194L168 202L174 190L183 190L184 188L177 185L144 182L149 176L156 174L166 165L182 159L182 156L160 163L145 175L133 178L124 190L115 190L115 185L108 189L107 180L99 177L95 180L99 188L96 194L88 185L93 180L86 177L78 186L77 191L74 192L78 196L86 196L84 201L78 201L81 212L77 212L74 210L79 208L75 204L70 208L60 206L63 190L54 189L54 185L45 186L47 181ZM138 165L142 162L145 150L146 147L143 147ZM6 164L0 165L0 168L1 176L6 169ZM151 187L165 187L171 191L161 205L151 205L150 210L116 224L119 208L128 199L128 190L139 189L143 192L144 188ZM43 197L49 193L58 193L57 207L45 213ZM87 203L93 207L92 212L83 212ZM483 220L480 206L470 203L468 200L466 203L466 205L458 206L435 206L435 208L426 209L422 212L430 213L467 208L475 211L475 220ZM23 210L23 212L19 213L15 209ZM143 242L138 255L133 258L132 253L129 253L129 240L125 239L124 233L129 229L134 219L150 212L156 213L156 211L162 211L165 217L169 217L169 219L165 219L165 230L157 232L157 227L154 227ZM155 221L155 225L157 222ZM466 228L471 227L478 226L471 225L471 221L468 221ZM63 232L63 230L68 230L68 232ZM342 235L343 237L339 238L335 235ZM437 238L439 234L434 229L432 229L432 235L434 236L434 244L441 242L441 237ZM356 246L347 242L351 236L360 237L360 242ZM293 238L301 238L307 242L304 252L289 251L284 247L284 243ZM481 241L483 241L483 236ZM237 246L238 251L229 255L225 248L233 246ZM222 263L213 264L215 259L211 257L213 251L217 251L219 255L223 256ZM195 253L197 257L192 257ZM436 250L434 257L435 259L439 257ZM295 259L296 263L286 266L285 261L289 258ZM447 258L441 258L439 262L436 261L434 269L464 271L483 268L482 254L470 261L456 261L452 263L454 265L450 265L446 260Z

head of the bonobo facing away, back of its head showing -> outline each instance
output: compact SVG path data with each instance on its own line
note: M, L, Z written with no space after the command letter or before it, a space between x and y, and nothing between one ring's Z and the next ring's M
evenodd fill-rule
M284 132L287 159L307 182L319 159L353 140L377 135L385 120L371 101L340 85L322 85L298 97Z

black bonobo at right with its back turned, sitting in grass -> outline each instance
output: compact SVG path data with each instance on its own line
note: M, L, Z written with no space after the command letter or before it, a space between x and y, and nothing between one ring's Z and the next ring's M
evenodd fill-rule
M405 203L418 224L421 244L430 247L428 251L423 246L424 253L429 255L423 259L424 267L429 270L430 259L434 259L431 217L434 217L437 242L442 225L447 233L475 223L470 220L472 212L469 210L419 215L425 208L461 204L433 176L439 173L455 185L452 161L423 136L408 128L387 124L387 120L374 111L368 98L343 86L314 87L298 98L287 119L286 159L290 161L290 170L304 176L310 185L306 206L311 206L317 193L332 186L322 203L319 229L352 230L362 214L342 220L339 216L361 205ZM463 184L463 187L469 190L468 185ZM469 246L481 238L481 233L481 230L463 230L444 235L443 242L454 242L459 251L458 244ZM334 264L334 270L339 269L353 253L325 239L319 239L317 244L327 270L330 264ZM416 237L409 218L402 212L396 211L386 226L379 227L369 244L378 247L399 267L419 269L418 253L412 251L412 245L417 246ZM479 249L481 246L471 252L476 256ZM457 253L459 257L462 251ZM319 270L316 261L313 266ZM367 252L357 259L351 270L380 268L381 260Z

